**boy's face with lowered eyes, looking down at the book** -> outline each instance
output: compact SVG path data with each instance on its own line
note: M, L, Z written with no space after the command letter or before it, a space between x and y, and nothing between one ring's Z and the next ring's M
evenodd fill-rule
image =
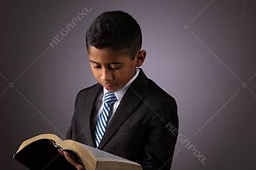
M110 48L97 49L90 46L88 54L95 79L110 92L124 87L135 75L136 67L143 63L138 55L132 60L129 55Z

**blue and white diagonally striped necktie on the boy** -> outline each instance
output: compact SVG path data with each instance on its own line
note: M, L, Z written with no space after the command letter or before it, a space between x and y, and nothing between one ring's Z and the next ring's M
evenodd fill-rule
M103 110L102 110L102 113L99 114L98 120L95 125L95 144L97 148L106 131L106 126L109 122L112 106L116 102L116 100L117 98L115 93L107 92L105 94Z

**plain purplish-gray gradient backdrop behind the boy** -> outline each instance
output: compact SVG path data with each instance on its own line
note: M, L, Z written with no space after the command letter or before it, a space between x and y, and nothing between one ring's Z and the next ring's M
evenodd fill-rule
M178 102L171 169L256 169L254 0L12 0L0 8L1 169L25 169L12 155L26 138L64 136L76 93L95 83L85 30L115 9L140 23L142 68ZM61 41L53 48L56 36Z

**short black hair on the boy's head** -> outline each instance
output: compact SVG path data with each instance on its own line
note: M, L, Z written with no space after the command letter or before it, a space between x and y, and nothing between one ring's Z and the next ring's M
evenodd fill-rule
M86 32L86 47L111 48L126 53L133 59L141 49L140 25L123 11L109 11L100 14Z

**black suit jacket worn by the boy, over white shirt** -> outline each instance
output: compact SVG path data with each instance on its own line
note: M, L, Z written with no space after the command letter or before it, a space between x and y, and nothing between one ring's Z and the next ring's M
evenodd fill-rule
M101 90L96 83L78 93L67 138L95 147L92 108ZM178 129L175 100L140 69L109 122L99 149L138 162L144 170L170 170L178 135L169 131L170 123Z

